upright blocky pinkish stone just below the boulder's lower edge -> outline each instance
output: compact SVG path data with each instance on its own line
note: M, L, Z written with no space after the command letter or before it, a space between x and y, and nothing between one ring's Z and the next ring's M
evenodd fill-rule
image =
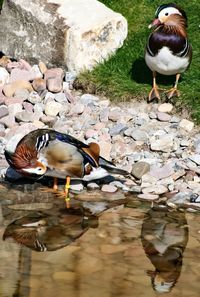
M62 91L64 71L61 68L47 69L44 78L47 82L47 89L52 93Z

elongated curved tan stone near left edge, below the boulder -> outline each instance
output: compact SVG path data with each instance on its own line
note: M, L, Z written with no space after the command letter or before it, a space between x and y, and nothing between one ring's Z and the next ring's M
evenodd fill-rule
M26 89L29 92L33 91L30 82L25 80L16 80L3 86L3 93L6 97L12 97L18 89Z

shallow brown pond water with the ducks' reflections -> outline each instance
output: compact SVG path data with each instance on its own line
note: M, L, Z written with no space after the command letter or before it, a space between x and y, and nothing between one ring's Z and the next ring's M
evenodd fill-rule
M84 195L2 186L1 297L199 296L198 213Z

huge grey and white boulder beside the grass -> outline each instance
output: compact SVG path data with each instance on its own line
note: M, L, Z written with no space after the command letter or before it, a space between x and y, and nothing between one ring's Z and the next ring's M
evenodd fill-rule
M5 0L0 50L31 63L92 69L122 46L127 21L97 0Z

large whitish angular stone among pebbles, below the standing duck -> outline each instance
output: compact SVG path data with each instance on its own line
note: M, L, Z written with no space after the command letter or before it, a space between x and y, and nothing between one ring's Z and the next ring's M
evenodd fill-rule
M153 136L150 138L150 146L152 151L168 152L173 149L174 136L163 135L160 137Z

